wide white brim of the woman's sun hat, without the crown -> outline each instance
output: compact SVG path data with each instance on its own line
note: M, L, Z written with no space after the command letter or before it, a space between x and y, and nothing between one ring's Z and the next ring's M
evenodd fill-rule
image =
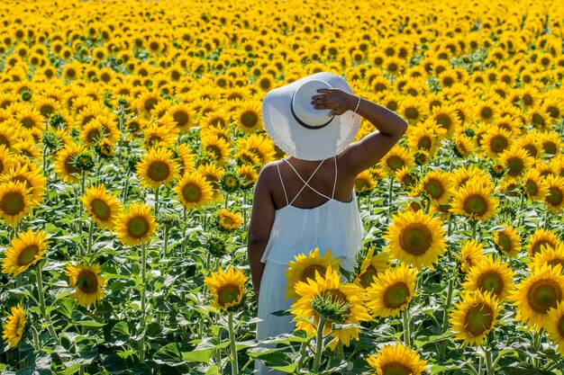
M262 121L268 135L287 155L303 160L324 160L341 154L349 147L360 127L358 114L348 111L334 116L321 129L307 129L292 114L292 95L305 82L319 80L353 94L350 85L332 73L316 73L277 87L268 92L262 102Z

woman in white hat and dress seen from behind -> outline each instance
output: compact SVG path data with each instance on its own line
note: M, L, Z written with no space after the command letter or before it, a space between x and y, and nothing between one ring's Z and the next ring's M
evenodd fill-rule
M350 144L360 117L378 131ZM354 194L357 174L375 165L404 135L407 123L386 108L352 94L331 73L307 76L267 94L262 117L287 157L265 165L254 192L248 234L250 272L259 318L257 339L291 332L291 316L272 315L285 299L287 262L319 248L352 271L362 245ZM259 373L267 368L257 362ZM273 372L268 372L273 373Z

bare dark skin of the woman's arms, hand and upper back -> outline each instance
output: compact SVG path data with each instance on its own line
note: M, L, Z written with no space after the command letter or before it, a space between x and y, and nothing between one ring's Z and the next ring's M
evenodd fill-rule
M354 111L359 103L359 97L348 94L339 89L320 89L312 97L312 105L316 110L331 110L330 115L341 115ZM378 130L355 142L337 156L338 183L335 188L334 199L348 202L352 199L352 189L357 175L378 163L387 152L396 145L407 129L407 122L387 108L361 98L357 113L370 121ZM306 180L320 165L321 161L307 161L288 156L287 161ZM265 263L260 258L268 244L270 231L274 224L274 215L287 205L286 197L277 172L277 164L284 180L288 200L292 201L304 183L285 162L273 162L265 165L259 174L255 187L253 210L250 215L247 252L249 254L250 273L254 290L259 299L260 281ZM323 161L320 169L314 175L310 185L315 190L331 196L335 178L335 166L331 159ZM305 188L292 203L302 209L320 206L325 201L321 195Z

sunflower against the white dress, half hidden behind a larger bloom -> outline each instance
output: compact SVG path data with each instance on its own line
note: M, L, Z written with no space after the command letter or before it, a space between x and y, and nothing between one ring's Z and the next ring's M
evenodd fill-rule
M296 299L298 295L294 290L299 281L306 282L308 279L314 280L315 272L325 274L325 271L332 267L333 270L339 269L339 259L332 256L331 249L321 256L319 248L311 250L308 255L297 254L294 261L288 262L286 269L286 299Z

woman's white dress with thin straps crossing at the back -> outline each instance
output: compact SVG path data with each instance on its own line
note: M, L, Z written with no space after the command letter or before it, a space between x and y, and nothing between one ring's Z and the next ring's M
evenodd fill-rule
M286 161L286 160L285 160ZM294 166L287 163L294 169ZM320 165L321 166L321 165ZM277 165L278 167L278 165ZM314 171L319 169L319 167ZM341 261L341 267L352 272L356 254L362 246L363 228L357 206L356 196L352 192L352 199L348 202L337 201L333 198L337 183L337 161L335 158L335 181L332 196L317 192L308 183L314 174L305 181L294 169L297 176L305 183L297 196L309 187L314 192L327 198L321 206L313 209L300 209L292 206L296 200L288 201L284 181L278 168L280 182L286 195L287 206L276 210L274 224L268 238L268 244L260 261L266 263L260 282L259 318L257 325L257 339L263 340L294 330L296 324L293 316L277 317L272 312L287 310L294 303L294 299L286 299L286 271L287 263L295 260L297 254L309 254L315 247L323 256L327 250ZM255 362L255 373L282 374L281 371L268 371L262 362Z

